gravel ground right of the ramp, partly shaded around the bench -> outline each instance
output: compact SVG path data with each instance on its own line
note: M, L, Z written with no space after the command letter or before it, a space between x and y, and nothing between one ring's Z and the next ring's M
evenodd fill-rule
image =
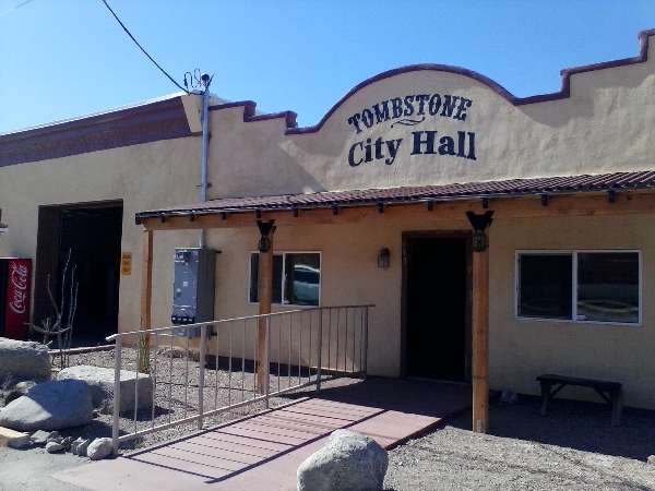
M490 408L491 431L469 431L471 412L390 452L388 490L655 490L655 411L521 397Z

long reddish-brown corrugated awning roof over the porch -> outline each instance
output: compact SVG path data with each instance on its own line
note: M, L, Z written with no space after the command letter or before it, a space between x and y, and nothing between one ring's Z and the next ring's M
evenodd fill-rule
M186 206L136 214L136 221L152 217L243 213L254 211L312 209L332 206L403 204L463 199L512 197L534 194L603 192L655 187L655 170L534 179L417 185L350 191L325 191L274 196L224 197Z

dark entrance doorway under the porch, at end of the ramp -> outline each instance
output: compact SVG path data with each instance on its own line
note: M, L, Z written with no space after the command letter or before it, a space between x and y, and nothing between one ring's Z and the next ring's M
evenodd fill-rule
M405 235L405 375L469 380L469 258L468 235Z

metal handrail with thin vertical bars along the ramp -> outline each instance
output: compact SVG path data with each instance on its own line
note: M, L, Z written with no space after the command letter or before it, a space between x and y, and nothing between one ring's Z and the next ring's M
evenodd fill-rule
M107 339L114 339L116 343L114 421L111 431L115 448L118 450L121 442L178 424L198 421L198 429L201 430L204 427L205 418L230 412L255 403L264 403L265 407L269 408L271 397L311 385L315 385L315 390L320 391L322 381L327 378L344 375L366 376L368 370L369 309L373 307L373 304L310 307L269 314L243 315L194 324L140 330L109 336ZM288 318L288 322L285 316ZM262 319L265 319L265 323L252 322ZM273 320L275 319L274 323ZM217 326L217 328L212 330L213 325ZM258 343L257 334L252 336L253 330L251 328L259 328L262 325L265 327L266 343L264 345ZM170 346L170 348L176 346L182 349L179 340L184 337L180 337L179 333L184 330L187 339L184 383L176 383L176 385L184 387L183 414L180 411L178 415L178 409L171 411L174 407L172 400L175 400L171 396L171 387L174 386L172 355L169 354L171 358L166 363L160 362L163 367L158 367L157 356L159 355L158 347L160 346ZM198 407L191 407L191 409L188 406L189 360L191 352L189 344L190 330L200 332L199 344L193 348L193 351L199 351L196 355L200 355L200 362L198 367L192 367L193 373L198 369L198 397L195 399ZM212 337L209 336L210 333L213 334ZM258 333L258 331L255 330L254 333ZM123 338L130 335L145 335L150 338L150 344L147 345L147 351L142 352L141 349L138 349L135 354L136 364L133 370L135 372L133 431L121 435L121 356ZM163 338L164 342L162 343ZM248 338L251 340L247 342ZM326 344L325 340L327 342ZM212 382L206 384L205 381L205 371L214 369L213 367L205 367L206 354L210 346L212 346L209 344L211 343L215 343L215 387ZM272 343L273 347L276 348L273 357L271 355ZM152 366L150 366L151 357L153 357ZM227 370L225 369L225 364L221 368L219 359L223 359L223 363L227 361ZM247 360L251 367L248 370L246 369ZM147 428L139 428L138 424L139 381L140 376L144 376L139 371L142 361L147 361L147 366L151 368L148 372L151 380L148 383L153 384L150 423L147 420L145 421ZM158 375L159 369L163 368L166 370L166 366L168 366L169 370L168 381L166 381L166 372L164 372L164 376ZM273 370L275 368L276 370ZM291 369L294 370L293 376ZM223 378L221 385L218 384L219 375ZM225 381L226 378L227 382ZM248 382L246 383L246 381ZM282 381L285 381L285 383L281 383ZM271 387L273 383L276 384L276 388ZM162 387L162 385L165 397L167 393L168 404L166 409L168 421L164 423L157 421L158 424L156 424L155 407L157 387ZM212 395L212 390L214 391L213 408L211 405L210 407L205 407L205 390L209 391L210 396ZM219 394L222 397L221 406L218 405ZM239 394L240 398L238 397ZM176 404L180 403L181 400L178 400ZM192 411L190 416L188 415L189 410ZM171 412L181 418L172 420Z

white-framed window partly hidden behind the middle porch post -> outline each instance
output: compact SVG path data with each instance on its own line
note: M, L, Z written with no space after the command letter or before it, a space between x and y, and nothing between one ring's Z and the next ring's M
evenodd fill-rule
M249 258L248 301L258 302L259 252ZM273 254L273 303L318 307L321 299L321 253Z

